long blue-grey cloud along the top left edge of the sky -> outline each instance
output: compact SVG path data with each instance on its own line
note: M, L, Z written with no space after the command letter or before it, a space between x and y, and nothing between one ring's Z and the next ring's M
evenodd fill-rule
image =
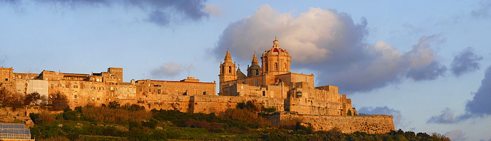
M53 8L101 7L122 5L125 8L140 8L148 13L145 21L159 26L169 23L199 21L209 16L204 9L206 0L0 0L0 4L18 8L28 2L51 5Z

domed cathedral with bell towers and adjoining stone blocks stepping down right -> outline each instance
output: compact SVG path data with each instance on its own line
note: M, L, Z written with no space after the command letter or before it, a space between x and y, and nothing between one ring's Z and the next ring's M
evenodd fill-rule
M220 62L218 95L242 97L268 97L286 99L285 111L318 115L352 115L351 99L338 93L332 85L314 86L314 75L292 73L291 58L275 39L271 49L264 51L261 65L256 54L247 67L247 75L237 68L227 50ZM312 105L313 104L313 105ZM316 106L314 106L316 105Z

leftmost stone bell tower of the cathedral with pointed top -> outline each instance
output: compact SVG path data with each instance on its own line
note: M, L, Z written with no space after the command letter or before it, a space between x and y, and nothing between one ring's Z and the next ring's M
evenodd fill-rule
M235 62L232 62L232 56L230 56L230 52L227 50L224 62L220 62L220 74L218 75L220 78L220 92L223 82L237 79L236 68Z

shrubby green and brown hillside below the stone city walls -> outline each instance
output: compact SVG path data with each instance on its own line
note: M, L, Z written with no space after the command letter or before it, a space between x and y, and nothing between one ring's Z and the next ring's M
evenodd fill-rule
M402 130L386 134L339 129L313 131L301 119L273 126L269 113L247 101L224 113L183 113L175 110L145 111L138 105L122 107L76 107L75 111L31 113L32 137L39 141L167 141L167 140L266 140L266 141L448 141L440 134L428 135ZM294 122L295 121L295 122Z

